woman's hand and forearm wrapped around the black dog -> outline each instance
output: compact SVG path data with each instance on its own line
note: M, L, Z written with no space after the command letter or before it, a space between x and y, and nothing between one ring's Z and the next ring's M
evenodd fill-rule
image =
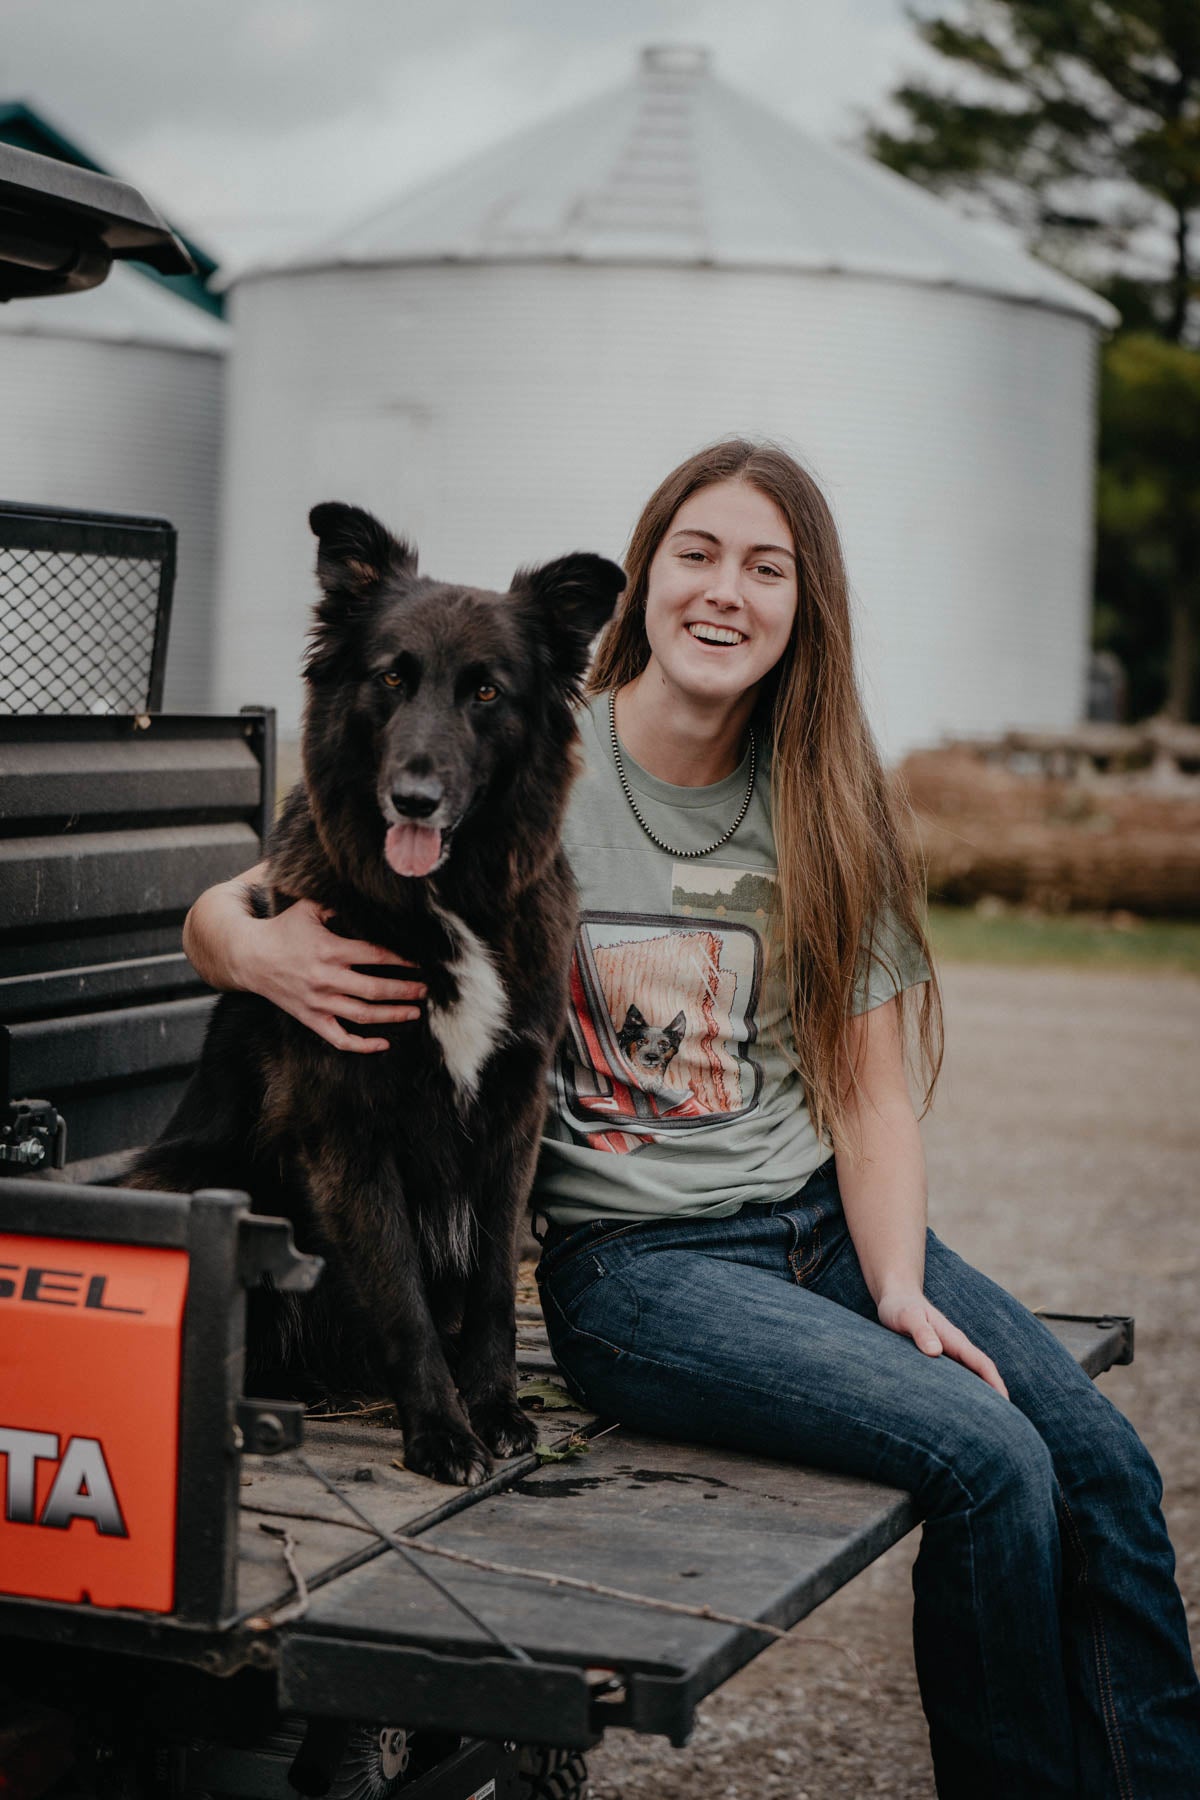
M387 1049L385 1037L354 1037L338 1021L405 1024L419 1019L421 981L356 974L354 963L403 963L394 950L338 938L311 900L297 900L273 918L255 918L250 889L266 880L266 864L209 887L184 922L184 950L212 988L261 994L324 1037L335 1049Z

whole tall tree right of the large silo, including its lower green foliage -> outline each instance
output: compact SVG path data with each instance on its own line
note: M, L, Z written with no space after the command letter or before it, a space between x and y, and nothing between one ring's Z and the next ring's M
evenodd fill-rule
M1101 382L1097 643L1121 653L1135 702L1187 718L1200 659L1200 0L964 0L954 16L912 18L955 79L900 86L900 122L871 126L865 146L1018 227L1121 310Z

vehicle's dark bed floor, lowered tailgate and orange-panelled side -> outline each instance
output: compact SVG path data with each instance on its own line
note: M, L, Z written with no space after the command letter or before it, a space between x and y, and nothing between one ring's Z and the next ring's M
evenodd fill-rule
M320 1269L295 1251L282 1220L252 1215L245 1195L9 1179L0 1183L0 1262L13 1271L0 1283L13 1296L4 1310L31 1395L76 1323L90 1334L76 1343L113 1372L124 1332L135 1361L121 1366L142 1372L113 1373L115 1406L88 1438L94 1447L104 1440L128 1530L95 1539L85 1588L58 1588L70 1600L50 1598L52 1584L2 1582L0 1638L54 1645L59 1658L76 1651L81 1667L119 1652L180 1676L261 1670L286 1712L479 1739L587 1748L608 1724L626 1724L684 1742L705 1694L916 1523L896 1489L642 1438L579 1411L549 1373L529 1282L518 1366L545 1404L542 1445L482 1487L450 1489L403 1467L403 1438L381 1406L302 1422L297 1406L239 1397L241 1292L264 1274L281 1287L311 1287ZM166 1415L153 1413L149 1388L137 1391L164 1341L149 1336L148 1289L135 1300L121 1285L122 1260L164 1255L185 1256L189 1271L178 1453L169 1427L164 1435L155 1422ZM95 1287L110 1274L88 1278L90 1269L115 1271L112 1291ZM104 1314L85 1319L94 1298L112 1323ZM1132 1359L1130 1319L1047 1318L1047 1327L1090 1375ZM58 1411L70 1411L76 1384L58 1391ZM36 1404L16 1420L25 1433L52 1426L65 1444L68 1429L86 1429L52 1418L49 1404L34 1418ZM67 1544L47 1530L45 1499L20 1510L18 1438L9 1445L11 1516L29 1523L0 1537L9 1555L49 1546L43 1568L54 1582ZM176 1471L173 1598L126 1597L119 1586L104 1598L95 1588L101 1543L117 1557L148 1543L139 1485L155 1480L167 1451ZM36 1454L50 1469L58 1438L40 1440ZM83 1530L92 1543L92 1526ZM140 1579L140 1564L130 1568ZM101 1604L88 1604L88 1588Z

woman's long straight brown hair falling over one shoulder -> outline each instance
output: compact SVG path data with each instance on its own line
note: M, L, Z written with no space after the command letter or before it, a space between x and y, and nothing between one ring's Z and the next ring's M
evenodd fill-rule
M855 1069L847 1021L871 958L892 963L896 936L919 945L925 882L855 680L842 545L813 477L775 445L729 437L696 452L651 493L626 554L628 585L588 677L590 693L624 688L646 668L649 563L684 500L718 481L745 481L792 527L797 608L792 639L763 684L759 729L772 743L772 824L779 882L774 954L788 994L795 1057L813 1125L846 1125ZM916 1062L925 1105L941 1067L941 994L934 976L916 1008ZM905 995L898 994L901 1030ZM909 1001L909 1021L912 1001ZM909 1033L905 1033L909 1042Z

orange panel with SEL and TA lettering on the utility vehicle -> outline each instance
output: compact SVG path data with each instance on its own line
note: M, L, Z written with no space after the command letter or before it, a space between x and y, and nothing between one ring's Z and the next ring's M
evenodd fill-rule
M169 1613L187 1253L0 1233L0 1593Z

